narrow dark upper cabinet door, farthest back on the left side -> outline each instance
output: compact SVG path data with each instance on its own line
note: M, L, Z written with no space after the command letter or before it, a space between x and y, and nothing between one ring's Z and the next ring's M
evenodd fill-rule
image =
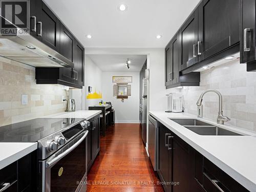
M74 70L75 80L74 83L79 86L84 85L84 48L76 40L74 51Z

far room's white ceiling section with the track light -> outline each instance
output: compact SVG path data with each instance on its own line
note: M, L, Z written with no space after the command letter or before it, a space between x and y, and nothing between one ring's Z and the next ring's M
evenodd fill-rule
M146 60L146 55L87 55L102 71L139 72ZM130 69L125 62L131 60Z

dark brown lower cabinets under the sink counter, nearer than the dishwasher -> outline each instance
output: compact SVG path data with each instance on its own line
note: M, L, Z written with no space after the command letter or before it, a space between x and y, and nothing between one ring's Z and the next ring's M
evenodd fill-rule
M165 192L248 191L161 123L158 176Z

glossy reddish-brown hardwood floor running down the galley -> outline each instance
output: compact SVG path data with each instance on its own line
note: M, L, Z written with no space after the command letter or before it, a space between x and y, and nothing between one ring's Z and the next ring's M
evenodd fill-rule
M141 139L140 124L116 123L100 137L88 191L163 191Z

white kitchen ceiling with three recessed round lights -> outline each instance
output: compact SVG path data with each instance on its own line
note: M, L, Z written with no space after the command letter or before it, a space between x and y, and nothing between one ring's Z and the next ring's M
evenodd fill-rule
M200 0L44 1L84 47L164 48Z

